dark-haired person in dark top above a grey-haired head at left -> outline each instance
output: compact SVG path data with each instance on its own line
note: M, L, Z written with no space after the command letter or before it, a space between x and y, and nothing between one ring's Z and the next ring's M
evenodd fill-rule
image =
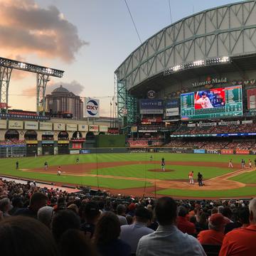
M46 206L47 196L41 192L33 193L28 208L21 208L14 215L23 215L32 218L37 218L37 213L40 208Z

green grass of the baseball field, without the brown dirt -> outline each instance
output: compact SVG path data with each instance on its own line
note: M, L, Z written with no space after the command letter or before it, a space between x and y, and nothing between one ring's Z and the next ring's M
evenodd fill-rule
M23 157L0 159L0 174L37 179L41 181L53 181L60 183L73 183L75 185L100 186L102 188L137 188L144 187L144 181L126 180L125 177L136 178L156 178L156 179L186 179L188 171L197 173L201 171L204 178L213 178L226 174L228 169L228 161L233 159L234 164L240 164L241 159L252 161L252 156L238 155L215 155L215 154L170 154L170 153L127 153L127 154L81 154L79 155L80 164L94 162L119 162L119 161L149 161L149 157L153 156L154 161L159 161L159 164L132 164L129 166L114 166L105 169L92 170L92 174L123 176L124 179L102 178L102 177L83 177L65 175L58 177L55 174L39 174L37 172L16 171L15 163L18 160L20 169L38 169L43 168L45 161L49 166L64 166L67 164L75 164L78 155L58 155L58 156L38 156L38 157ZM154 172L149 169L160 169L161 158L166 161L183 161L183 162L208 162L208 166L169 166L166 169L172 169L171 172ZM215 163L226 163L227 168L215 167ZM256 173L242 174L232 178L235 181L244 183L256 183ZM154 186L154 184L146 183L146 186ZM195 197L232 197L232 196L252 196L256 195L254 187L238 188L228 190L223 188L223 191L186 191L178 189L165 189L157 191L157 193L171 196L195 196Z

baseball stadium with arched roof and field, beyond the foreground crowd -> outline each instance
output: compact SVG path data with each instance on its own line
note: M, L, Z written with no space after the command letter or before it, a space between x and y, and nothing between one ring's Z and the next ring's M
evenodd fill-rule
M138 197L256 196L255 17L255 1L228 4L148 38L114 71L113 119L90 98L83 117L54 114L46 86L64 71L0 58L0 175ZM8 109L13 69L36 73L36 112Z

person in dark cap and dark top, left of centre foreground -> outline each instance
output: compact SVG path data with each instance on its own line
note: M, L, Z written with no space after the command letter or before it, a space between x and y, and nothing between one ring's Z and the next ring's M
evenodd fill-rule
M100 217L100 209L95 202L88 202L83 211L85 215L85 223L82 223L80 230L82 230L89 238L92 238L95 232L95 225Z

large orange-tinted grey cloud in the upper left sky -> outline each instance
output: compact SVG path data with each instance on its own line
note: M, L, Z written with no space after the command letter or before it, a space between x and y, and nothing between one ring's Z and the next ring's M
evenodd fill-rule
M88 44L56 6L43 9L33 0L1 0L0 17L0 48L12 54L35 53L70 63Z

